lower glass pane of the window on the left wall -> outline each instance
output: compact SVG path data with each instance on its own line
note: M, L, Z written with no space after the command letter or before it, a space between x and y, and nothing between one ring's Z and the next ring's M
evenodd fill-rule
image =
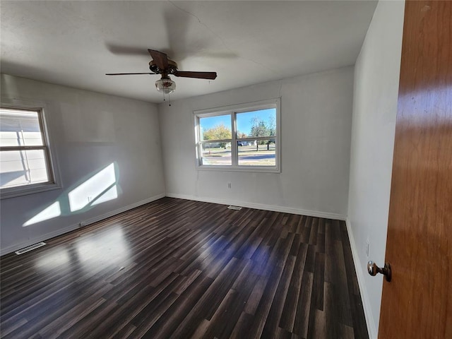
M0 188L48 182L44 150L0 152Z

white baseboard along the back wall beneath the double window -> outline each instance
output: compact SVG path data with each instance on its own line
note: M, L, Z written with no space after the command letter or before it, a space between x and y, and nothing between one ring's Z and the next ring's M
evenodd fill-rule
M303 210L301 208L292 208L284 206L265 205L262 203L249 203L245 201L235 201L218 198L205 198L201 196L190 196L186 194L167 193L169 198L179 198L185 200L203 201L205 203L219 203L220 205L233 205L246 208L256 208L256 210L273 210L274 212L292 213L299 215L308 215L309 217L345 220L345 215L339 213L320 212L318 210Z

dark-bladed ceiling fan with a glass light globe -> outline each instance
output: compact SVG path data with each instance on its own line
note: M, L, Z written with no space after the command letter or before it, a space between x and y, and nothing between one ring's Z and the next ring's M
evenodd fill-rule
M167 54L155 51L154 49L148 49L150 56L153 58L149 62L149 69L152 73L106 73L106 76L128 76L135 74L161 74L162 78L155 81L155 88L158 91L165 94L169 94L176 90L176 83L169 78L169 74L172 76L178 76L182 78L198 78L214 80L217 77L216 72L189 72L179 71L175 61L168 59Z

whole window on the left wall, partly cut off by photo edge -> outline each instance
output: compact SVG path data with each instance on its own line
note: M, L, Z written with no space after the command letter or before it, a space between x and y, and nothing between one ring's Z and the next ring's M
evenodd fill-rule
M1 105L1 198L57 186L45 131L42 108Z

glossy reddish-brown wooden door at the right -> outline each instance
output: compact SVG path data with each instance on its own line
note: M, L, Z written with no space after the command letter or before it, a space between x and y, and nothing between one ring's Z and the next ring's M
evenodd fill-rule
M379 338L452 338L452 1L406 1Z

